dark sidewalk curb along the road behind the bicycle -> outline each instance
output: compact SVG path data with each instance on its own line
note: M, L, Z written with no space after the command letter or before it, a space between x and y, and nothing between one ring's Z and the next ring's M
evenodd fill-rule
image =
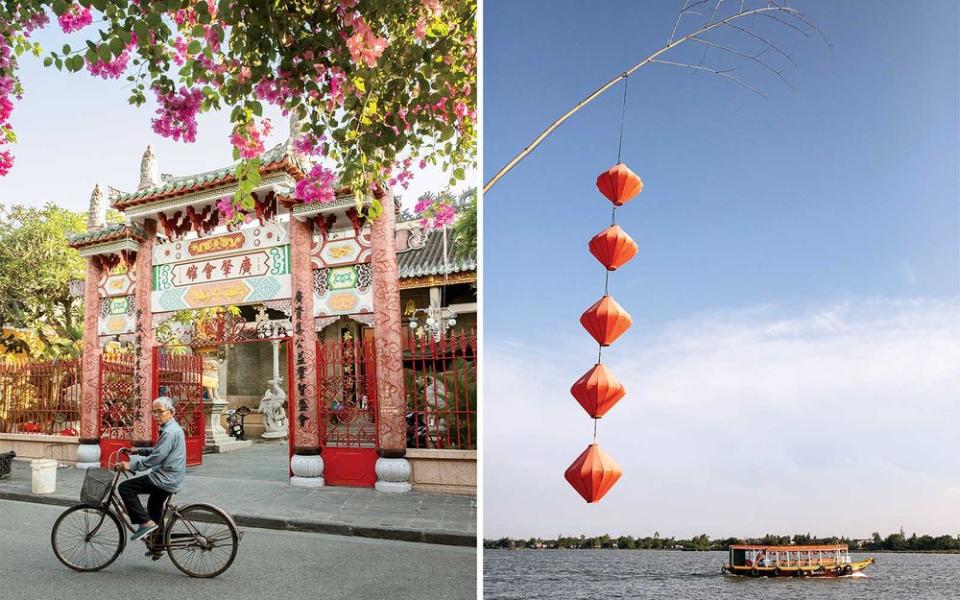
M17 502L32 502L50 506L75 506L80 504L74 498L64 496L36 496L22 492L0 490L0 500L14 500ZM345 523L330 523L311 519L287 519L277 517L262 517L256 515L230 514L234 522L240 527L256 527L260 529L276 529L281 531L303 531L307 533L326 533L331 535L349 535L356 537L375 538L381 540L397 540L401 542L420 542L424 544L442 544L447 546L476 547L477 538L464 533L452 533L438 530L400 529L396 527L354 527Z

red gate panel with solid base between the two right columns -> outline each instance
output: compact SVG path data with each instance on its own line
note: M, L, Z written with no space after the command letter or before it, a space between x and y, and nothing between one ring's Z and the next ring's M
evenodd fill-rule
M317 402L324 478L330 485L377 481L377 384L373 339L317 341ZM292 415L291 415L292 418Z

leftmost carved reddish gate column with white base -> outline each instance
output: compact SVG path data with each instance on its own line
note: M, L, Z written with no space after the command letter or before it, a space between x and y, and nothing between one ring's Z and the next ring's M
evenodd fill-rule
M77 467L100 466L100 318L98 285L103 271L96 256L87 258L83 289L83 355L80 362L80 446Z

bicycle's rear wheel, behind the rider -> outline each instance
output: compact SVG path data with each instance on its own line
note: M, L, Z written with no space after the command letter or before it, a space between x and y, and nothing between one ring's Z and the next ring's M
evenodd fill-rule
M191 504L177 511L164 535L170 560L190 577L216 577L237 556L240 531L216 506Z

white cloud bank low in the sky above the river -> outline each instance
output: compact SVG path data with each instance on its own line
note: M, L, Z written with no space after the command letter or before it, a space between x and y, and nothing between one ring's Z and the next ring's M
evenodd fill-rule
M485 536L960 531L958 305L778 312L697 315L605 353L627 396L598 441L624 476L589 506L563 480L592 434L569 394L588 338L488 338Z

